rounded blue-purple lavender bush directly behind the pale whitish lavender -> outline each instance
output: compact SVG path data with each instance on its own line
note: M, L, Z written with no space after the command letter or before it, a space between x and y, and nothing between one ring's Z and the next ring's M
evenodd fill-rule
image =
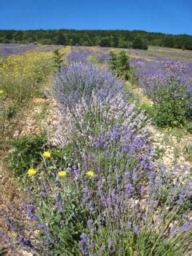
M54 94L59 102L66 102L70 106L81 97L89 101L93 90L101 98L106 98L123 90L123 84L110 71L97 69L84 62L72 62L64 66L55 78Z

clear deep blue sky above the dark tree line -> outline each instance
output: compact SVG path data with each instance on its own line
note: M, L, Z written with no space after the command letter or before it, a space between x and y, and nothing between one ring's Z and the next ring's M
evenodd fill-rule
M0 29L192 34L192 0L0 0Z

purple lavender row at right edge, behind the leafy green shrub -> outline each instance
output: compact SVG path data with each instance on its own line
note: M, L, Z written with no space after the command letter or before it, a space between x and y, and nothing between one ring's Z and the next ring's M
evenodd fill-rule
M136 68L138 85L146 94L154 98L157 86L167 84L169 80L178 82L181 86L186 86L186 93L191 95L192 87L192 63L167 58L157 57L153 61L146 61L142 58L130 60L131 66Z

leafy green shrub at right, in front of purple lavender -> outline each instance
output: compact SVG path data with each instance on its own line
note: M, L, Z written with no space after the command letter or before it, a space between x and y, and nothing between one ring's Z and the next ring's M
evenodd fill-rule
M171 81L159 85L154 92L154 121L158 126L183 126L186 122L187 96L185 86Z

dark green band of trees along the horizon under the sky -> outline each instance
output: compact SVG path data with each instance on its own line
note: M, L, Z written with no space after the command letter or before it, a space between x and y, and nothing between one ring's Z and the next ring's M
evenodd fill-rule
M0 30L1 43L102 46L144 49L148 45L192 50L192 36L142 30Z

